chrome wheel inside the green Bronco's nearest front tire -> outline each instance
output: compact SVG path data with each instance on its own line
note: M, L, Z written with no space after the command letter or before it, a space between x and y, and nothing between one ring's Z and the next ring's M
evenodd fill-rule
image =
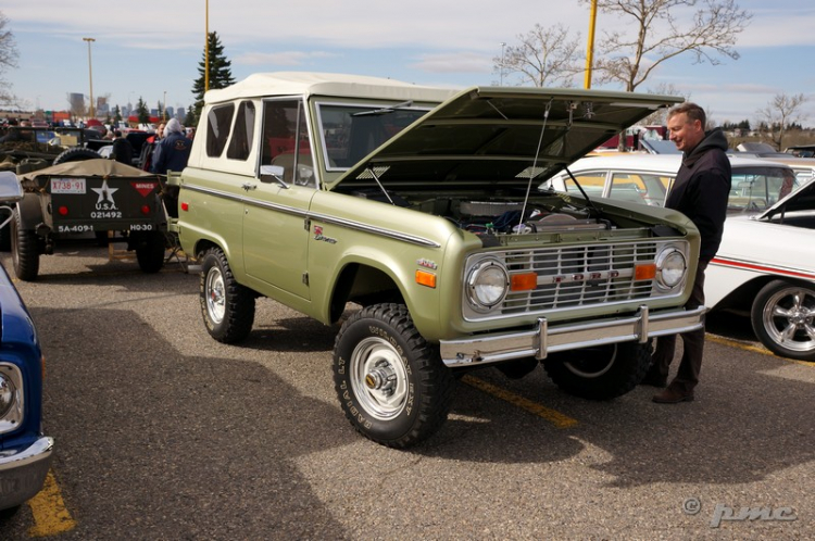
M365 412L379 420L402 413L408 401L408 369L388 341L371 337L362 340L351 354L351 388Z

